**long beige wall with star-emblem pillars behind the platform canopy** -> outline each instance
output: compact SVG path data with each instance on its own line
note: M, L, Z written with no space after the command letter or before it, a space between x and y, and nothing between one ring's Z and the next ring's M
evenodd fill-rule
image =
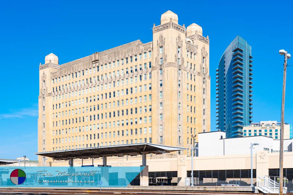
M155 158L147 155L149 172L178 171L178 175L186 175L185 171L191 170L191 157L178 155L176 158ZM251 169L250 154L220 155L193 158L194 170L243 170ZM293 152L284 153L284 168L293 168ZM91 165L91 159L84 159L84 165ZM102 165L102 159L94 159L94 165ZM142 159L133 157L108 157L107 164L112 166L140 166ZM68 161L54 161L52 166L69 166ZM81 166L81 159L74 160L74 166ZM279 153L257 151L253 153L253 169L257 175L268 175L268 169L279 168ZM179 177L179 176L178 176Z

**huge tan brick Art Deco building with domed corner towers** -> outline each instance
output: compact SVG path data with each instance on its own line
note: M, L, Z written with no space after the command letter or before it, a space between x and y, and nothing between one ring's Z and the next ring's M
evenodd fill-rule
M152 42L39 68L39 152L150 142L190 155L191 134L210 131L209 38L171 11Z

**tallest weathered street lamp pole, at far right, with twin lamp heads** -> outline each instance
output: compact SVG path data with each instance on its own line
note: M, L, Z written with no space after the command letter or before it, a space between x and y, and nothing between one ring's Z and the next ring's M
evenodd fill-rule
M284 152L284 112L285 112L285 91L286 91L286 74L287 74L287 59L291 57L287 51L281 49L280 55L284 55L284 73L283 73L283 92L282 92L282 107L281 107L281 139L280 139L280 187L279 194L283 195L283 152Z

